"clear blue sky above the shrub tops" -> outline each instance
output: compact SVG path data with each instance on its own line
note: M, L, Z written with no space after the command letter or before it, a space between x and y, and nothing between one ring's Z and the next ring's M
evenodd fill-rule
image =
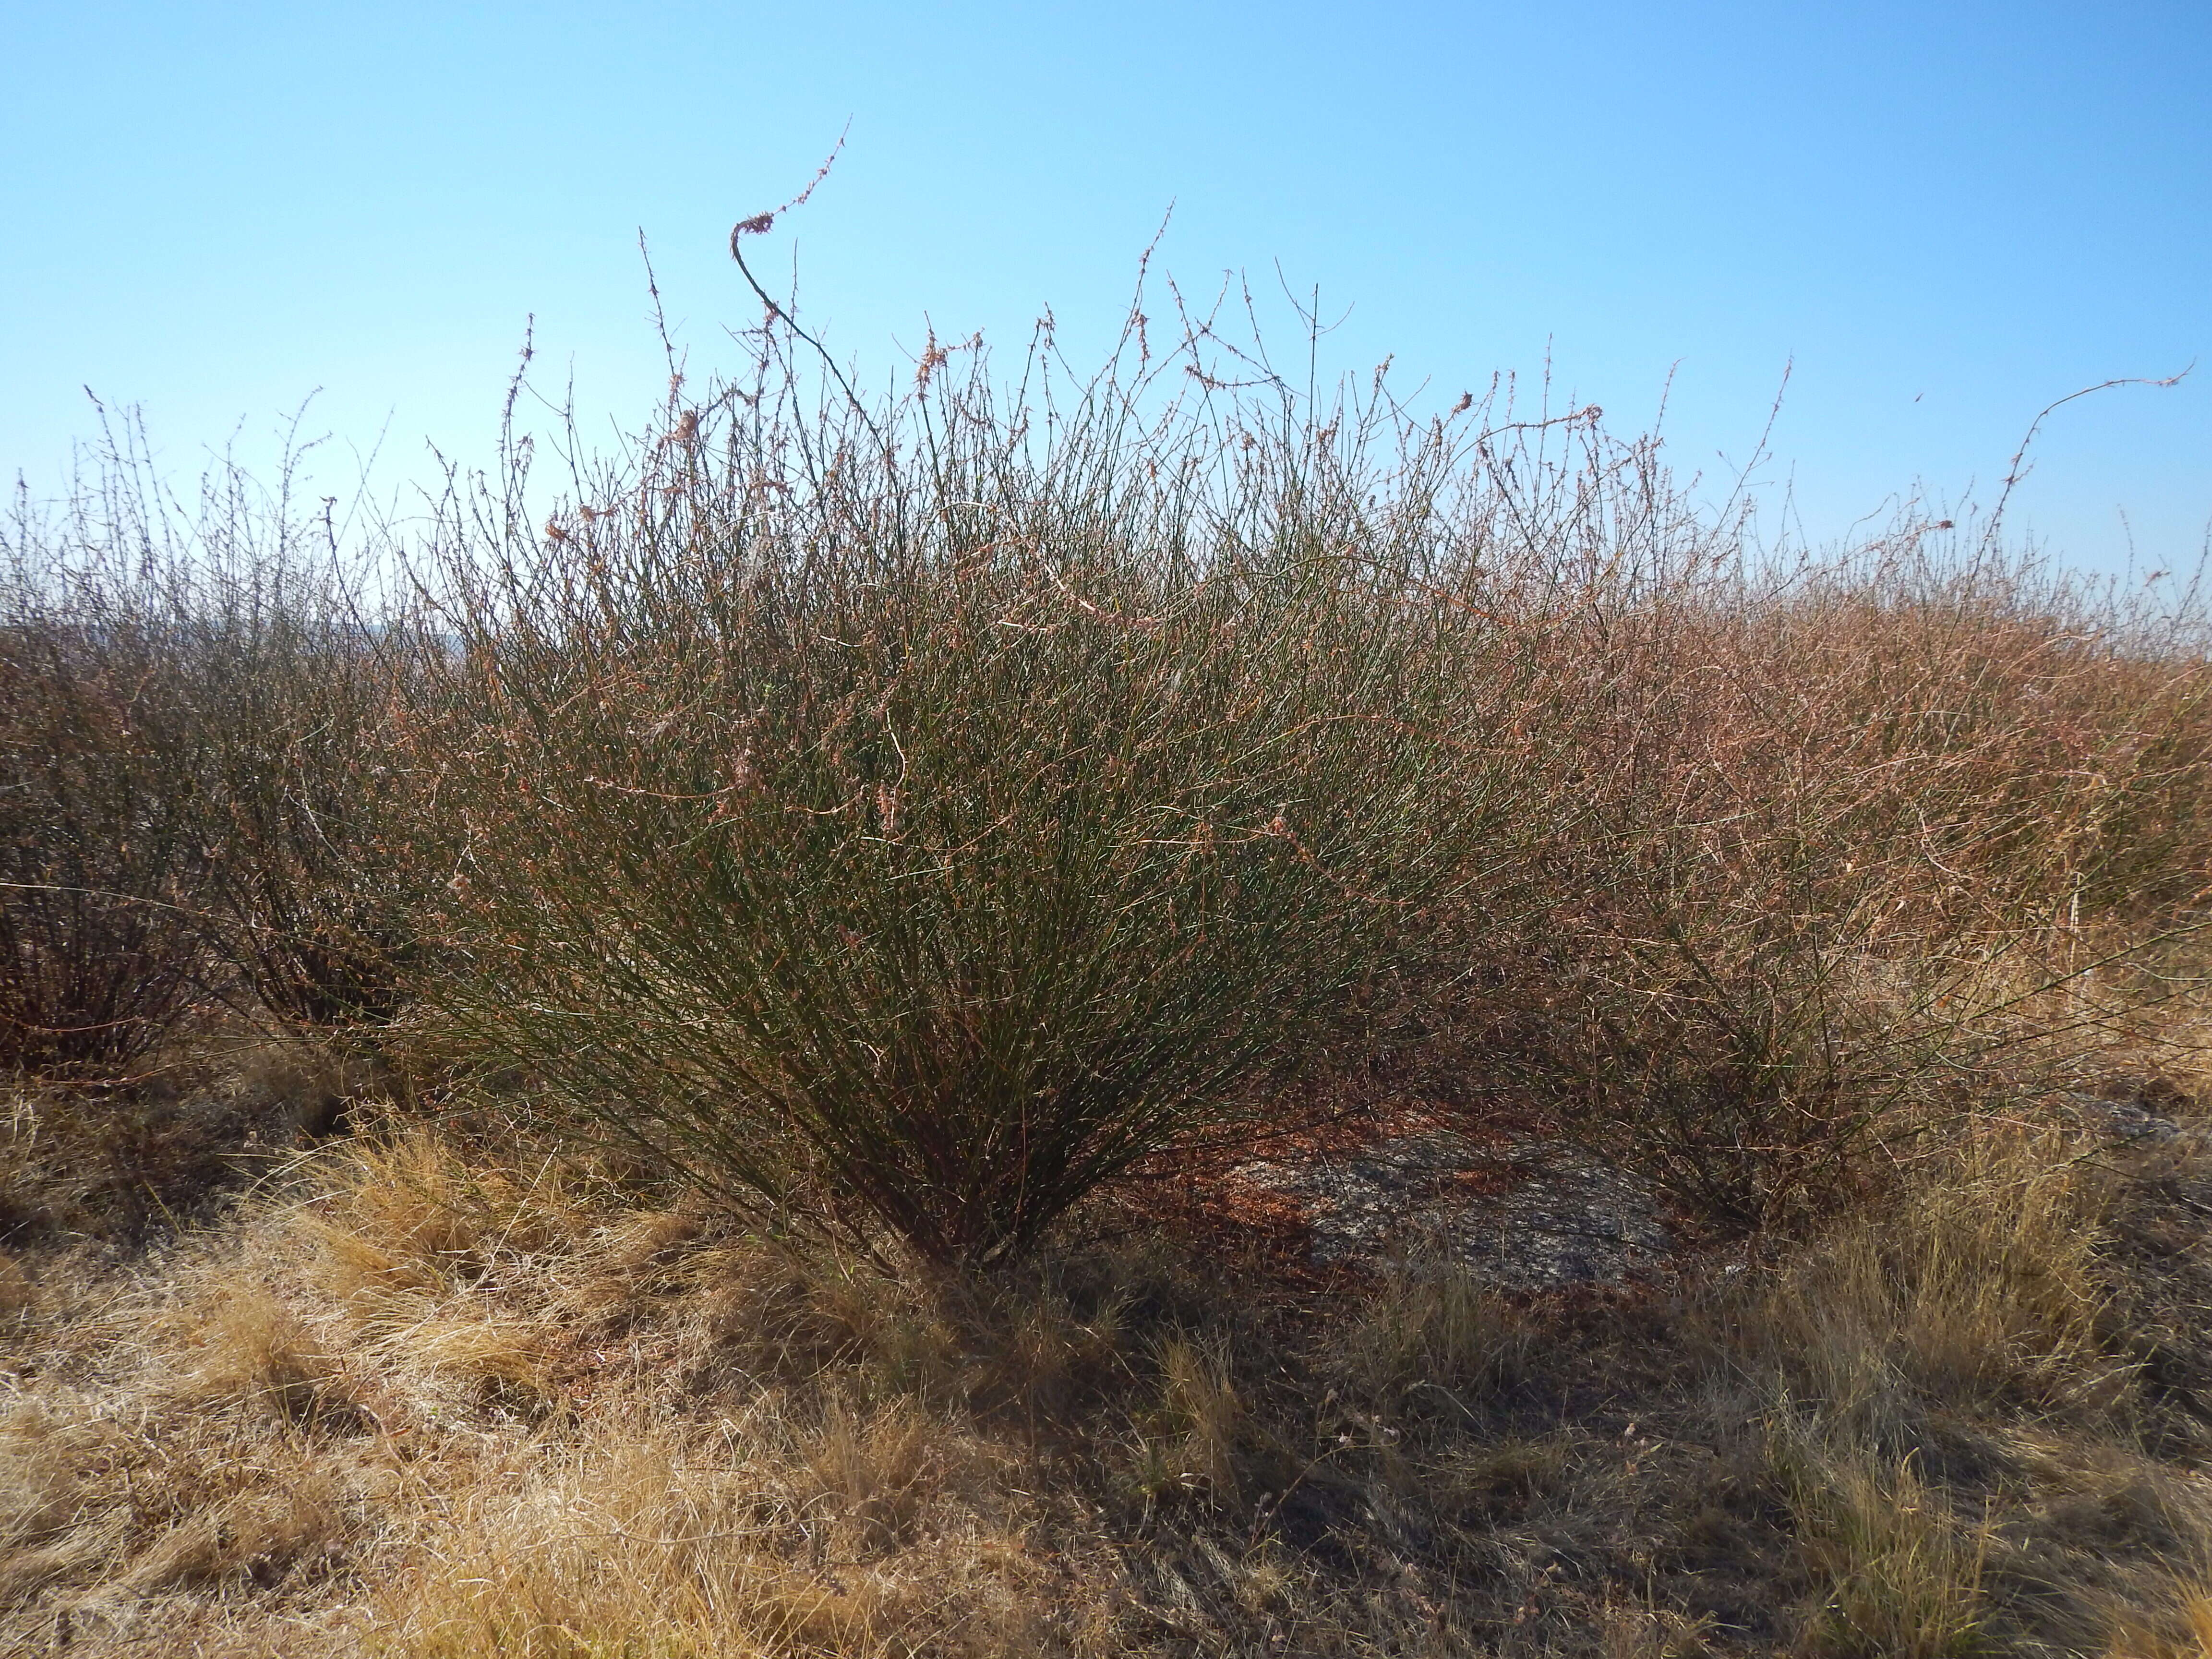
M310 416L387 484L482 458L524 316L597 422L659 385L637 230L697 365L774 237L880 380L931 316L1104 338L1159 263L1354 305L1334 349L1455 396L1555 376L1679 465L2015 498L2084 564L2212 520L2212 4L22 4L0 0L0 467L60 480L82 387L197 471ZM1679 367L1677 367L1679 365ZM343 471L343 465L338 467ZM1770 491L1772 495L1772 491Z

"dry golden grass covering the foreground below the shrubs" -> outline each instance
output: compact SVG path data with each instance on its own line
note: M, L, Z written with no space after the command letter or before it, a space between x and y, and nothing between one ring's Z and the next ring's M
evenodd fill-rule
M2119 1312L2130 1228L2212 1188L2194 1128L1993 1124L1579 1305L1128 1217L885 1279L489 1121L392 1119L137 1265L9 1259L7 1641L2197 1652L2212 1427Z

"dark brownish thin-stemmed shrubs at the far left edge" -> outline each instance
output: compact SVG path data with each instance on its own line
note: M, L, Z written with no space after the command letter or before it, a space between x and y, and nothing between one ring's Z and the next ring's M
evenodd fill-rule
M0 1066L113 1071L195 1002L376 1024L416 933L420 635L234 467L106 427L0 529Z

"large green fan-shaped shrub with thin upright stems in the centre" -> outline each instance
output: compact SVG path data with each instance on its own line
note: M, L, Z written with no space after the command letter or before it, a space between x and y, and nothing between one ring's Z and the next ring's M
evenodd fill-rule
M1332 522L1369 480L1312 434L1223 500L1203 431L1029 416L975 380L712 465L688 411L458 573L445 692L449 1013L719 1192L938 1263L1312 1044L1509 796L1458 611Z

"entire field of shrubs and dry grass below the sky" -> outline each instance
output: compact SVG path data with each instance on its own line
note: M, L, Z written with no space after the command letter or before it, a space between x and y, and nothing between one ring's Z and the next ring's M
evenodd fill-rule
M18 507L0 1646L2212 1652L2192 595L792 338Z

